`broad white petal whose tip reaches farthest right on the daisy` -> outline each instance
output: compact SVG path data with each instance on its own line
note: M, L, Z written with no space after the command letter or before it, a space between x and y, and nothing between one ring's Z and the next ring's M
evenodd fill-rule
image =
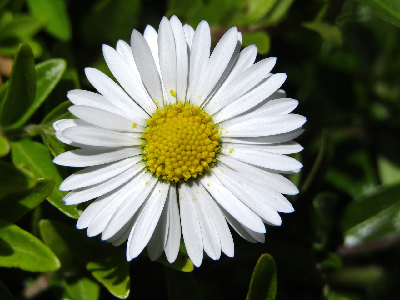
M228 122L222 124L225 131L222 131L221 136L256 137L296 130L306 122L306 117L299 114L277 114L268 116L268 118L243 116L240 120Z

